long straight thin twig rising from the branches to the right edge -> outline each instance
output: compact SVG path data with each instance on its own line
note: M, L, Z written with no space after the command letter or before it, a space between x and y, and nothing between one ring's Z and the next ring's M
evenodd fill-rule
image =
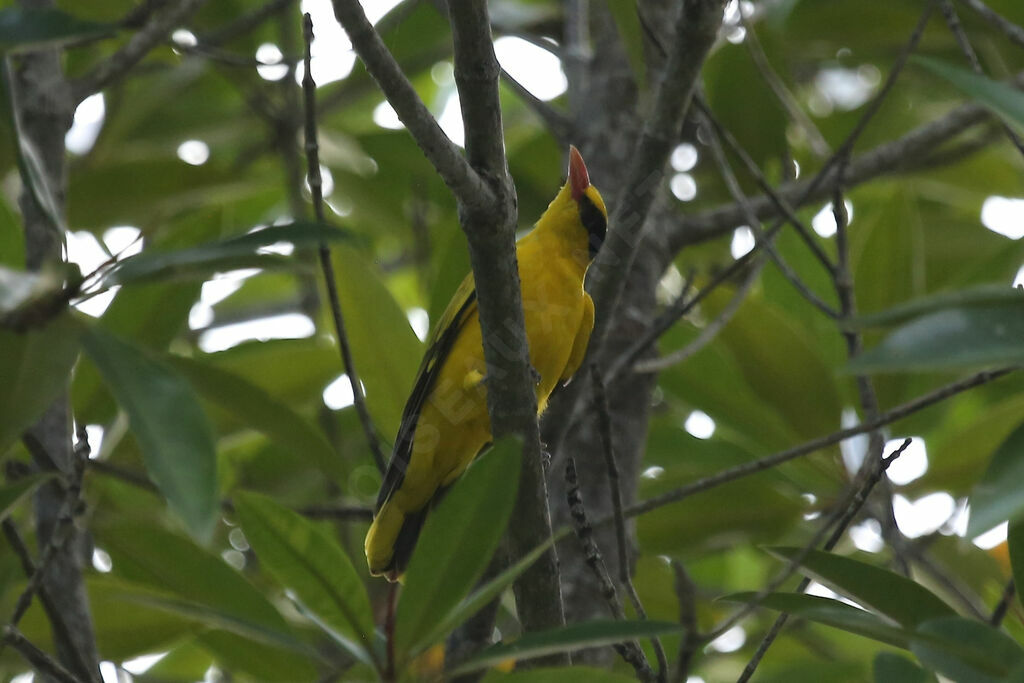
M930 391L929 393L919 396L918 398L909 400L901 405L897 405L896 408L879 415L879 417L873 420L864 420L859 425L848 427L846 429L840 429L825 436L819 436L818 438L811 439L810 441L806 441L792 449L786 449L785 451L781 451L766 458L761 458L749 463L743 463L742 465L730 467L729 469L723 470L717 474L697 479L696 481L685 486L674 488L670 492L662 494L660 496L655 496L647 499L646 501L632 505L626 508L623 511L623 514L627 518L636 517L666 505L682 501L683 499L689 498L694 494L699 494L710 488L714 488L720 484L777 467L782 463L795 460L801 456L806 456L809 453L814 453L815 451L823 449L826 445L839 443L840 441L848 439L851 436L863 434L892 422L896 422L897 420L905 418L908 415L913 415L929 405L945 400L950 396L967 391L968 389L981 386L982 384L986 384L1000 377L1005 377L1016 370L1018 370L1018 368L1004 368L1000 370L987 370L976 375L972 375L963 380L942 386L934 391ZM609 517L599 520L596 524L608 523L610 521L611 518Z

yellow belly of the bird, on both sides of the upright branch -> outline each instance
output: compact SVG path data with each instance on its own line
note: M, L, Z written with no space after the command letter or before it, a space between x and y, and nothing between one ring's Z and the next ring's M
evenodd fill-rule
M571 288L566 293L563 286L556 301L548 296L555 291L550 280L534 287L523 282L530 364L540 374L538 414L565 370L580 329L584 302L583 289L577 288L579 293ZM453 345L417 421L409 469L392 495L402 509L425 506L438 487L455 481L492 440L485 372L480 324L474 313Z

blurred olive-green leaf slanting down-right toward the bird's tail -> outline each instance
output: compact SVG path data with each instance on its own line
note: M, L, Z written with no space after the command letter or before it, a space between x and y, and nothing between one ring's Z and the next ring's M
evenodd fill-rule
M286 402L209 362L183 356L171 356L170 361L205 398L245 425L315 464L334 480L344 476L341 459L323 433Z

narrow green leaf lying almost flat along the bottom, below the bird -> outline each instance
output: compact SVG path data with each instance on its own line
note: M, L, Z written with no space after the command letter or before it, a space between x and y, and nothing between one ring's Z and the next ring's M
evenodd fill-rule
M546 654L566 652L584 647L602 647L627 640L653 638L685 629L672 622L586 622L560 629L528 633L508 645L488 647L450 672L458 676L483 669L505 659L532 659Z

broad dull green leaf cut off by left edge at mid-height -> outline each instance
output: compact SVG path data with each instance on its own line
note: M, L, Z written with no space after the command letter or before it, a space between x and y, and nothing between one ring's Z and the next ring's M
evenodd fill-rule
M0 454L68 388L81 336L69 314L39 330L0 329Z

